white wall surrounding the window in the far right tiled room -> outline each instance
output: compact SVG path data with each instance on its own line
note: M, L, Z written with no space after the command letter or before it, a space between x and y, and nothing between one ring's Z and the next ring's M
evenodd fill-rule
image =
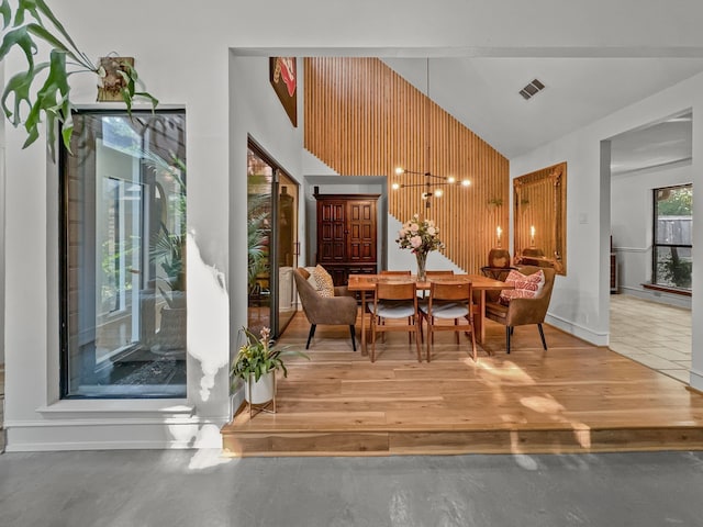
M691 298L643 288L651 281L652 189L693 181L691 161L614 175L611 184L611 232L617 256L620 292L680 307Z

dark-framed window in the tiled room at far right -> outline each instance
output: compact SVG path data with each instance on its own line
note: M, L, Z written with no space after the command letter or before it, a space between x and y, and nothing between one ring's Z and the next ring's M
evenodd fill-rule
M652 283L691 289L693 186L654 190Z

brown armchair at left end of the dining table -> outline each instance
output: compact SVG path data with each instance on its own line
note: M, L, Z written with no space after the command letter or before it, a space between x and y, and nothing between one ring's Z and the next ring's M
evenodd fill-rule
M310 340L315 335L317 324L323 325L346 325L349 326L352 335L352 348L356 351L356 315L358 312L356 296L346 287L335 287L334 296L324 298L310 284L308 279L310 272L303 267L293 271L295 287L300 301L303 304L303 312L310 322L310 333L305 349L310 348Z

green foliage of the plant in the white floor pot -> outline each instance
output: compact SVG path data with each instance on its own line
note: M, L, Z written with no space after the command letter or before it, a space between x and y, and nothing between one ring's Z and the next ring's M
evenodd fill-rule
M242 379L248 381L252 375L258 381L261 375L269 371L280 369L283 377L288 377L288 369L283 362L286 356L303 357L310 360L302 351L289 349L289 347L276 348L271 345L271 330L268 327L261 329L261 338L258 338L247 328L243 327L241 332L246 338L246 343L237 351L237 356L230 369L230 380L234 390L236 382Z

